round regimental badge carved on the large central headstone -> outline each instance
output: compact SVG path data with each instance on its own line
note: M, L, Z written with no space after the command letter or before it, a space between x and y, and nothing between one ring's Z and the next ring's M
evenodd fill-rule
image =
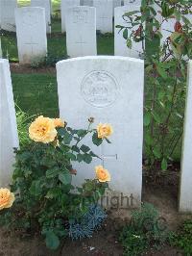
M115 78L107 71L93 71L87 74L84 77L81 90L84 100L99 108L114 103L119 93Z

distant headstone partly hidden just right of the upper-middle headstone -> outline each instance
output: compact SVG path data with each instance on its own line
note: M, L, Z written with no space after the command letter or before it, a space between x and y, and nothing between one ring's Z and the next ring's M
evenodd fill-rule
M93 0L96 8L97 30L101 33L112 33L113 0Z

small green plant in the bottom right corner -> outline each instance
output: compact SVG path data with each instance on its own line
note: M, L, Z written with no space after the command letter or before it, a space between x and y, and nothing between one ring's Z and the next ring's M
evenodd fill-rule
M192 219L185 220L178 232L171 234L170 243L180 247L184 251L184 255L192 255Z

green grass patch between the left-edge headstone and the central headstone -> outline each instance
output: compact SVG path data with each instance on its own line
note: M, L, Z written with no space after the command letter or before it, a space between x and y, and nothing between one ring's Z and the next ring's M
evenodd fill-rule
M29 115L59 116L58 89L53 74L12 74L14 101Z

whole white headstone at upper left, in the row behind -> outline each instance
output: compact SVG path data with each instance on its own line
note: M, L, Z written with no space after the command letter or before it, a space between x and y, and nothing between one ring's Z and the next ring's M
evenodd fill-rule
M23 7L15 10L19 63L30 64L46 56L45 10Z

